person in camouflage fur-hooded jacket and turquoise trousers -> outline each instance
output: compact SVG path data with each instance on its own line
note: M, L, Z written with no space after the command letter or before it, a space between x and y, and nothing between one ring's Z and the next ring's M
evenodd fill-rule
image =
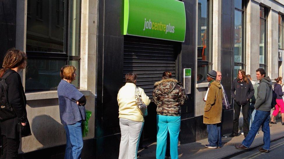
M166 139L170 134L171 158L177 159L178 134L180 132L180 107L188 99L182 84L164 72L161 81L154 85L153 100L157 105L157 150L156 158L164 159Z

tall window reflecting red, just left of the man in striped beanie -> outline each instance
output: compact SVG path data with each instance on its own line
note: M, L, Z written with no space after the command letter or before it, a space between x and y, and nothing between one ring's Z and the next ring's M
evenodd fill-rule
M206 81L212 70L212 1L198 0L197 82Z

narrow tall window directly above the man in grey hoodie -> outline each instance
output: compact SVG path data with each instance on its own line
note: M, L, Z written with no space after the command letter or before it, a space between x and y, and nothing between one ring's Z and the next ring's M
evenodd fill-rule
M259 67L267 71L267 8L260 6Z

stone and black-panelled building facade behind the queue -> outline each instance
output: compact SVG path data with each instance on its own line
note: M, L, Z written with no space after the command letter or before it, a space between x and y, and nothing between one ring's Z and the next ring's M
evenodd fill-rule
M117 158L116 97L128 72L138 74L137 86L151 98L153 84L162 72L171 71L184 83L183 71L191 69L189 100L181 114L181 144L207 138L203 97L208 71L221 71L230 100L231 108L224 112L224 134L232 131L230 88L238 70L246 70L253 80L259 67L271 79L284 74L284 0L182 0L182 42L124 35L125 1L1 1L1 63L11 47L28 55L28 66L21 75L32 135L22 138L22 158L64 156L65 131L56 87L60 68L66 64L77 68L78 79L73 84L87 97L86 109L93 112L82 158ZM143 140L155 141L156 129L156 106L151 102Z

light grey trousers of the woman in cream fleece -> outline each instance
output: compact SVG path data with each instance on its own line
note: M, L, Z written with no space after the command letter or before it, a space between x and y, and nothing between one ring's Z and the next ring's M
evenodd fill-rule
M144 122L119 118L119 125L121 131L121 141L118 159L136 159L139 138L141 136Z

